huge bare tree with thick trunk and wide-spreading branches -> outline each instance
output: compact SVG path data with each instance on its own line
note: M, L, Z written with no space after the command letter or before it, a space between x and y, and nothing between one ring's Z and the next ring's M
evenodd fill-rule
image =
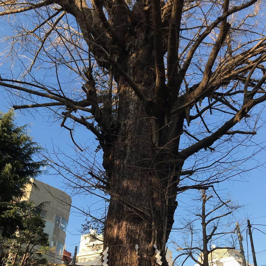
M103 170L95 172L86 159L84 169L59 166L88 193L109 195L109 265L157 265L154 244L167 265L177 194L236 176L260 149L251 137L266 100L265 3L5 0L0 6L14 29L2 54L14 71L0 80L12 101L22 100L13 107L54 112L80 157L88 136L75 139L78 125L102 150ZM135 244L142 247L138 257Z

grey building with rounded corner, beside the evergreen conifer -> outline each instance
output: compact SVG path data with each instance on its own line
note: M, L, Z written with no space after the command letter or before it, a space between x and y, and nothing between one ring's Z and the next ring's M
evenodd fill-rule
M36 179L34 185L27 185L26 195L21 200L34 203L35 206L44 203L41 215L45 217L46 226L44 232L49 234L51 252L47 254L49 263L61 263L66 238L71 198L57 188L49 186Z

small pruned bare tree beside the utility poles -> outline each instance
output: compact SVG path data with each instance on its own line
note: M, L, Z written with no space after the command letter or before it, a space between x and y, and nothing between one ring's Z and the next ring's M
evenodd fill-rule
M215 250L235 249L235 213L241 206L205 190L199 194L201 197L194 199L193 206L188 207L189 219L183 217L181 220L184 227L179 234L183 236L179 242L173 242L180 254L173 260L173 265L185 256L181 260L183 263L191 258L200 266L209 266Z

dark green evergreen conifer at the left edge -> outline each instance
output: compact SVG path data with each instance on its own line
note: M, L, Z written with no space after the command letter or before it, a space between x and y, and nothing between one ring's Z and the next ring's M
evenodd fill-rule
M41 173L43 160L34 160L40 146L27 135L26 126L14 124L14 113L0 113L0 233L11 236L22 227L25 208L19 199L31 178Z

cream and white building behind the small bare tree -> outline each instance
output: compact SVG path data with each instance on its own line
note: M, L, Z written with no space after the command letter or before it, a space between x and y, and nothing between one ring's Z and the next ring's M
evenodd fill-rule
M218 248L209 254L208 259L210 266L243 266L241 253L239 250ZM203 262L201 256L198 257L198 261L200 263ZM246 265L253 266L247 260ZM199 266L199 264L195 264L195 266Z

